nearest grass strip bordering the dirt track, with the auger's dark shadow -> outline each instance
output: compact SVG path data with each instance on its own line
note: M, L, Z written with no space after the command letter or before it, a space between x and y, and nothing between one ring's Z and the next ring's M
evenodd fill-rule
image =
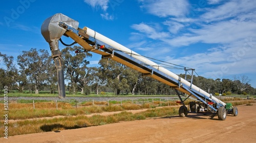
M77 129L90 126L99 126L112 124L121 121L145 120L150 117L165 117L177 115L178 107L165 107L161 109L152 109L140 113L131 113L122 111L110 116L94 115L92 117L76 116L65 118L23 120L10 122L8 124L9 136L19 134L29 134L47 131L58 131L65 129ZM3 121L1 121L3 125ZM0 137L3 137L4 126L0 126Z

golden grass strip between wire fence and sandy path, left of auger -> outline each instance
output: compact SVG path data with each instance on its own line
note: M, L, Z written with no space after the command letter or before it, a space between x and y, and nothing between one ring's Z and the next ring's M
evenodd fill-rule
M24 120L33 118L44 118L44 117L54 117L54 116L78 116L78 115L90 115L91 113L100 112L112 112L112 111L123 111L123 110L135 110L143 108L155 108L156 106L151 103L145 104L132 104L123 103L122 106L119 104L110 104L109 106L101 105L92 106L88 104L90 102L83 103L87 106L80 106L78 108L74 107L71 103L58 102L58 108L56 102L35 102L30 101L24 103L10 102L9 103L9 120ZM98 102L99 104L105 104L104 102ZM4 103L0 103L0 107L4 107ZM3 112L4 108L1 108ZM1 117L2 120L4 117Z

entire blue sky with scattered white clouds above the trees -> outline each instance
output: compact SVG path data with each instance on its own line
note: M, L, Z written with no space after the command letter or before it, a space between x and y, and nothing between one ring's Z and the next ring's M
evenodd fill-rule
M206 78L247 75L256 88L255 10L254 0L6 1L0 6L0 51L15 58L31 48L50 53L40 27L62 13L139 54L195 68ZM89 59L91 66L99 60L96 54Z

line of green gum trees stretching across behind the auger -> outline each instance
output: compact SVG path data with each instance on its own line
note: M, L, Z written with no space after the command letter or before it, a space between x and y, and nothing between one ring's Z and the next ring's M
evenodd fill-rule
M66 91L69 94L80 92L89 95L113 92L120 94L170 95L175 91L168 85L151 77L142 76L136 70L126 67L111 59L101 59L98 67L89 67L89 52L75 53L83 50L80 46L66 47L61 50L63 69L65 71ZM11 91L38 94L39 91L57 92L56 69L47 50L31 48L22 51L16 60L13 56L0 52L0 90L5 86ZM180 74L182 78L185 74ZM191 76L187 75L187 78ZM193 84L212 94L256 94L256 89L249 84L246 75L234 76L233 79L207 79L194 76Z

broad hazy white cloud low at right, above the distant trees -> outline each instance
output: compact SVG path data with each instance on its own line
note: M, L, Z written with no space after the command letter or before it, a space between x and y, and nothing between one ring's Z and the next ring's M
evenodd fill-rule
M224 78L241 73L255 73L256 39L254 42L245 44L244 40L228 47L214 47L208 52L201 52L189 56L167 57L169 63L175 63L185 67L195 68L199 75L206 78ZM254 66L253 66L254 65ZM174 71L177 74L183 71Z

